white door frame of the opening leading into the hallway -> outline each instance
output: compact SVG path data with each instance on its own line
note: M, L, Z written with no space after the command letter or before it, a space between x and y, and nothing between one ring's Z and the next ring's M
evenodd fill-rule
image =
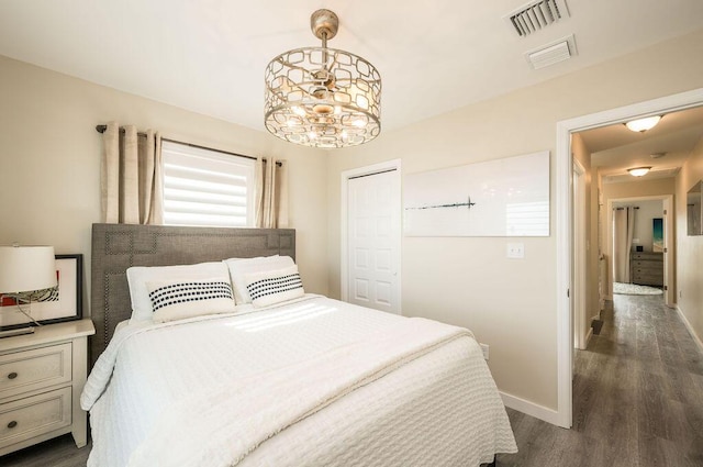
M635 118L674 112L703 105L703 88L557 122L556 242L557 242L557 425L571 427L573 368L573 322L570 289L573 287L573 212L571 208L571 134L599 126L624 123Z

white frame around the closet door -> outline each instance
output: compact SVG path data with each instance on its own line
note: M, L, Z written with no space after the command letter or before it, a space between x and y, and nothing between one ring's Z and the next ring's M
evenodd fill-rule
M349 180L353 178L357 178L357 177L364 177L364 176L369 176L369 175L376 175L376 174L380 174L380 173L384 173L384 171L391 171L394 170L395 171L395 177L398 177L398 189L401 190L401 204L402 204L402 186L401 186L401 159L392 159L392 160L387 160L384 163L379 163L379 164L373 164L370 166L365 166L365 167L358 167L358 168L353 168L349 170L345 170L342 173L342 193L339 196L341 199L341 208L339 208L339 218L341 218L341 226L339 226L339 234L341 234L341 238L339 238L339 281L342 283L339 283L339 290L341 290L341 296L342 296L342 301L348 301L349 300L349 287L348 287L348 280L349 280L349 235L348 235L348 207L349 207L349 200L348 200L348 192L349 192ZM402 224L402 212L400 215L400 220L401 220L401 224ZM401 294L401 247L402 247L402 225L399 225L399 238L398 238L398 264L395 265L397 270L398 270L398 285L397 285L397 292L398 292L398 310L399 310L399 314L403 314L403 310L402 310L402 294Z

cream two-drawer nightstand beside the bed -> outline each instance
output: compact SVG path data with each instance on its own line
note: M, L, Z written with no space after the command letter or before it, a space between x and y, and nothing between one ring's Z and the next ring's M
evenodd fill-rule
M76 446L87 444L79 400L94 333L86 319L0 340L0 456L65 433Z

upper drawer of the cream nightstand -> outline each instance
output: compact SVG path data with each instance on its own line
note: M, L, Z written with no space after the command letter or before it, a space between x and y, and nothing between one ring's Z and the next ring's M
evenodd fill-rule
M70 380L70 342L0 356L0 399Z

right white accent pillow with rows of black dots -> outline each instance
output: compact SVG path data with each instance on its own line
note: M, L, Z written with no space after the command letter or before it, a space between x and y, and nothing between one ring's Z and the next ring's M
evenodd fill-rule
M267 307L302 297L303 282L298 266L244 275L246 288L254 307Z

